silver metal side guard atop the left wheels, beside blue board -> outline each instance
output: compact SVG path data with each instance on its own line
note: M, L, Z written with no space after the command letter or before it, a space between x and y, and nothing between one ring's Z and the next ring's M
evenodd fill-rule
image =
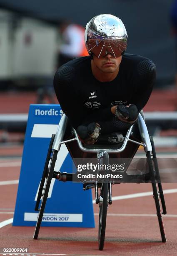
M54 149L54 150L57 150L57 151L60 150L60 147L61 147L60 142L63 141L65 131L66 131L66 128L67 128L67 121L68 121L67 116L65 114L63 114L62 118L60 120L60 123L58 125L57 132L56 132L56 135L55 135L55 139L54 139L54 142L53 142L53 145L52 145L52 149Z

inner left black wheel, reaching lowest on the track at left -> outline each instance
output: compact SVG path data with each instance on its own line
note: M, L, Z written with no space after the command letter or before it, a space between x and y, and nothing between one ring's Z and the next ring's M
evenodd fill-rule
M42 217L43 217L44 210L45 210L45 205L46 205L46 201L47 201L47 197L48 197L48 192L49 192L50 184L51 184L52 177L53 177L55 162L57 160L57 153L58 153L58 151L54 150L53 154L52 154L52 159L51 159L50 167L49 167L49 173L48 173L47 181L46 181L46 184L45 184L44 194L42 195L42 202L41 202L41 206L40 206L39 215L38 215L38 218L37 218L37 223L36 223L35 233L34 233L33 239L37 239L38 235L39 235L40 225L41 225L41 222L42 222Z

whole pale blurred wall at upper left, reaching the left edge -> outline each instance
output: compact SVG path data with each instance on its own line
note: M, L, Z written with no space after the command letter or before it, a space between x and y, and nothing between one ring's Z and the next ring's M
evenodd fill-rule
M0 79L47 77L55 72L57 29L0 10Z

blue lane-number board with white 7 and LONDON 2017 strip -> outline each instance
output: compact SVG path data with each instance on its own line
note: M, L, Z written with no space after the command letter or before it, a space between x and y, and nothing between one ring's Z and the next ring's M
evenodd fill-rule
M62 116L60 105L30 105L14 226L35 226L37 192L52 134ZM55 171L72 172L72 159L65 144L58 152ZM41 226L94 228L91 190L82 184L52 179Z

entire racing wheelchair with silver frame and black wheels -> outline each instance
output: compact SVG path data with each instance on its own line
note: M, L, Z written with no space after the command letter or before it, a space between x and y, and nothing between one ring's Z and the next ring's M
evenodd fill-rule
M61 144L65 143L72 158L89 158L90 156L96 157L99 164L106 165L109 164L109 157L111 156L133 159L139 146L143 146L146 153L150 182L152 183L152 192L157 210L161 238L162 242L166 242L165 229L162 220L162 214L167 213L165 199L160 181L153 137L149 136L148 134L143 112L140 112L137 121L130 126L129 130L125 134L123 142L115 145L85 145L82 143L82 141L80 141L77 132L73 128L70 130L70 137L68 138L67 136L66 139L65 133L67 133L67 128L68 118L65 114L63 114L58 125L56 135L52 135L47 152L47 158L45 161L44 171L35 205L35 210L39 211L39 215L33 239L38 238L52 178L58 179L59 181L72 181L72 173L61 173L60 171L54 171L57 154L60 150ZM95 188L95 202L99 205L98 247L99 250L102 250L105 242L107 208L108 205L112 204L112 184L114 184L114 182L110 181L109 179L104 179L104 182L97 182L96 180L90 182L83 181L82 183L84 190ZM162 205L162 212L160 201Z

